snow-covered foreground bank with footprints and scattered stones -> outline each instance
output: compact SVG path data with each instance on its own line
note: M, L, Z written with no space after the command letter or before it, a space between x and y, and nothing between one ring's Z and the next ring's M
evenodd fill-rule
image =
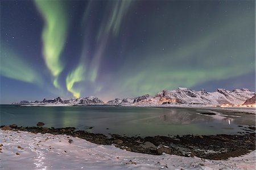
M7 130L0 130L0 135L0 169L255 169L255 151L228 160L207 160L139 154L67 135Z

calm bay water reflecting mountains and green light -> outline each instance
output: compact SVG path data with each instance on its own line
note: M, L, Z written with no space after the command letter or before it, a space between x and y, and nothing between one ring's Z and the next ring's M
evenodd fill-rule
M243 131L238 125L255 126L255 115L209 109L1 105L0 111L1 125L15 123L26 127L44 122L45 127L76 127L95 133L127 136L236 134ZM200 114L209 112L216 115Z

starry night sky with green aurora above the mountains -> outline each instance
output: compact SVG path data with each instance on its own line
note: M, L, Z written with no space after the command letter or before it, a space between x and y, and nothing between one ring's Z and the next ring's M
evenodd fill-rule
M1 1L1 103L255 90L255 1Z

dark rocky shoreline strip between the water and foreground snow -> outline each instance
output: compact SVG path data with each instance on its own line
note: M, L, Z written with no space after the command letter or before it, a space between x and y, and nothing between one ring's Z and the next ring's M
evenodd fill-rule
M41 123L39 123L41 124ZM179 155L187 157L201 157L204 159L226 160L229 157L245 155L255 148L255 127L248 127L242 135L184 135L184 136L120 136L112 134L109 138L104 134L93 134L86 131L76 130L75 127L48 128L42 127L18 127L15 124L1 126L2 130L28 131L33 133L50 133L54 135L69 135L88 140L96 144L111 145L122 150L139 152L143 154ZM70 140L69 143L73 141Z

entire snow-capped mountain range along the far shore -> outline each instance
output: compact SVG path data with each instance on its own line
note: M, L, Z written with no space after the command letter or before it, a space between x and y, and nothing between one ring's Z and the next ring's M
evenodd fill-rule
M150 105L253 105L255 104L255 92L249 89L226 90L217 89L215 92L200 91L188 88L175 90L162 90L155 96L146 94L135 98L115 98L104 103L101 99L90 96L77 99L43 99L43 101L20 101L13 105L116 105L116 106L150 106Z

